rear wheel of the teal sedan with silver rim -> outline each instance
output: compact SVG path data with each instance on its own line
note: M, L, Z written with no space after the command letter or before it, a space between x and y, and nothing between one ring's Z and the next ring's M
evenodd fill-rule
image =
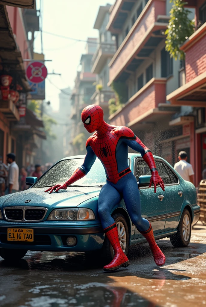
M191 216L187 209L182 212L177 233L170 236L170 242L174 247L186 247L191 237Z

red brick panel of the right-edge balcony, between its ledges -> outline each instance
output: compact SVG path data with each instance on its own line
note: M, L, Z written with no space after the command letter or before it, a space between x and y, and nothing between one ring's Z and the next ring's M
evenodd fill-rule
M186 82L206 71L206 35L186 51Z

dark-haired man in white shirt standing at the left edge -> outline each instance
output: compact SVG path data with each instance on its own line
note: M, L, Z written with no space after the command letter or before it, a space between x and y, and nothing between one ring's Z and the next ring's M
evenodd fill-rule
M19 167L15 162L15 158L16 155L14 153L7 154L7 163L10 164L10 167L5 194L15 193L19 190Z

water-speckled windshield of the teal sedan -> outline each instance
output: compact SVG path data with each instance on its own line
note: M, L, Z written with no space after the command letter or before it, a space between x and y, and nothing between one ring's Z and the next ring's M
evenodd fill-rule
M52 186L58 183L64 183L71 177L74 171L84 163L84 159L69 159L59 161L54 165L49 171L44 174L33 186L32 188L41 188ZM94 186L94 185L104 185L106 183L105 169L101 164L101 161L97 158L92 165L90 172L74 183L74 185L81 186Z

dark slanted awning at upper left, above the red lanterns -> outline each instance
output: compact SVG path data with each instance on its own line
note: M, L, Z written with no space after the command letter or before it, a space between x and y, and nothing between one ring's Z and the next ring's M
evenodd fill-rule
M9 73L15 74L24 91L31 91L26 80L21 52L13 36L6 6L3 5L0 5L0 35L0 68L8 69Z

